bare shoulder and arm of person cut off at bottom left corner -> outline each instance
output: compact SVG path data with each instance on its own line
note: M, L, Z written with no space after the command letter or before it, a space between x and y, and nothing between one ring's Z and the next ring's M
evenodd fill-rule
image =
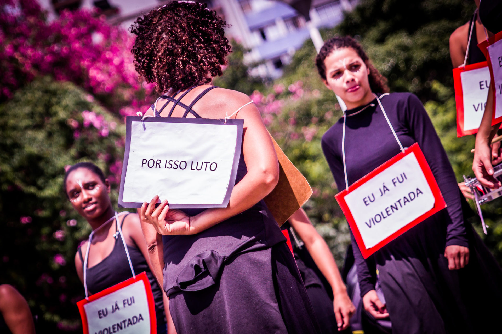
M28 302L9 284L0 285L0 333L35 334Z

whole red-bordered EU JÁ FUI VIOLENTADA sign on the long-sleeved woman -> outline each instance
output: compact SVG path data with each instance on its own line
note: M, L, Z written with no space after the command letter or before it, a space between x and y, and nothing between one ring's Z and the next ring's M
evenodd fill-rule
M446 207L417 143L335 198L364 258Z

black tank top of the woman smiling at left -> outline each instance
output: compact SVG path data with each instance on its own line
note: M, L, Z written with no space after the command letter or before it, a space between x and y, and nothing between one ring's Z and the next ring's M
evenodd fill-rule
M120 227L123 225L124 220L128 215L129 213L124 215L122 222L120 223ZM115 232L116 229L115 225ZM133 263L134 272L138 274L145 271L147 273L148 280L152 286L152 293L154 295L157 327L165 327L166 320L164 317L164 302L162 299L163 292L159 283L150 270L143 253L137 247L128 245L127 249L129 251L129 256L131 257L131 262ZM80 247L78 248L78 254L80 255L80 260L84 263ZM126 250L123 247L122 238L120 236L117 235L115 238L115 245L113 246L111 253L98 264L88 267L86 275L87 289L89 290L89 293L102 291L110 286L133 277L129 261L127 259Z

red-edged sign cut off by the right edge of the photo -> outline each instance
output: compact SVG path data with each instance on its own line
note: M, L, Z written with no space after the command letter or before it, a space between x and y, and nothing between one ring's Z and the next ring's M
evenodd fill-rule
M478 44L488 63L491 82L493 82L493 113L491 125L502 122L502 32Z

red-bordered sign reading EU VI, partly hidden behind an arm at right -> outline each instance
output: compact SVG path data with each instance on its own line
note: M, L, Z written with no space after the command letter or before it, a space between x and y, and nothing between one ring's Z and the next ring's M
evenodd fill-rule
M490 87L487 62L453 69L455 104L457 109L457 137L477 133L483 118Z

